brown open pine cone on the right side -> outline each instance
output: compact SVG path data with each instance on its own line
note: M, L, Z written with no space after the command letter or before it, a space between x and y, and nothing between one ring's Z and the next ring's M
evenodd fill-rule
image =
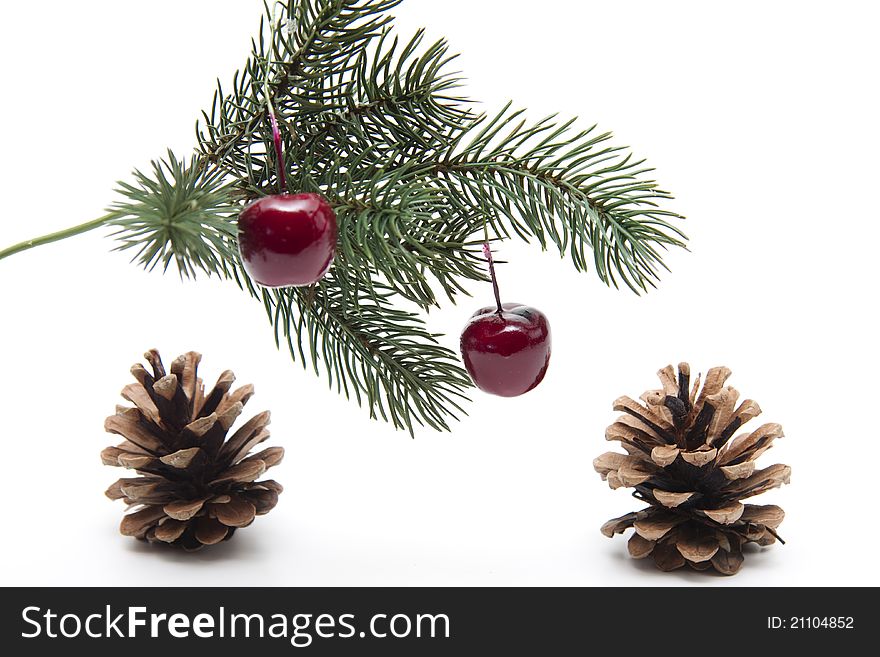
M634 488L649 506L609 520L602 533L613 537L632 527L630 554L653 557L661 570L688 565L732 575L742 566L744 544L783 542L776 533L782 509L741 502L789 482L787 465L755 465L782 427L764 424L733 437L761 409L751 399L736 406L739 393L724 386L726 367L710 369L702 390L699 377L690 386L687 363L679 364L678 377L671 365L658 376L663 388L642 395L644 404L614 402L624 415L605 437L627 454L606 452L593 461L611 488Z

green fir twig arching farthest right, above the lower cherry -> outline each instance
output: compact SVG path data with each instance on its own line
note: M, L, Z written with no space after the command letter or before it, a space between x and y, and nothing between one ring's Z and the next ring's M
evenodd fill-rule
M485 215L501 236L553 242L578 270L592 260L606 284L620 280L637 294L654 287L665 268L660 251L686 238L670 222L680 215L661 207L672 196L645 178L652 169L596 126L575 132L574 119L554 117L529 125L522 114L508 105L478 120L432 161L449 202Z

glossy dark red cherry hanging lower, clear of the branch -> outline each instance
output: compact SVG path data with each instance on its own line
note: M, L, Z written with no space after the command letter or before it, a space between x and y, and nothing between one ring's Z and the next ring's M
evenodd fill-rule
M550 363L550 324L520 303L481 308L461 334L465 367L480 390L516 397L544 378Z

